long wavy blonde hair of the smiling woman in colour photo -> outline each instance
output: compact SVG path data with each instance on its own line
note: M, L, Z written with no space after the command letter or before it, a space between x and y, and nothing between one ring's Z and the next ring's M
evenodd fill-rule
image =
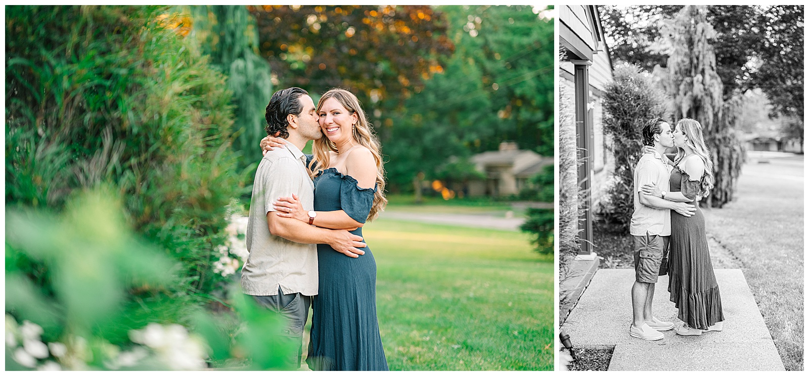
M365 112L362 111L359 100L354 94L351 94L350 91L344 89L326 91L326 94L321 96L320 100L317 102L316 111L320 113L320 108L323 107L324 102L331 98L337 99L337 102L340 102L349 112L357 114L357 125L353 127L351 135L354 137L355 142L371 150L371 154L374 155L374 161L376 162L376 192L374 193L374 203L371 205L371 212L368 213L367 219L367 221L372 221L385 209L385 205L388 205L388 199L385 198L384 193L385 168L383 167L382 153L379 152L379 140L377 140L373 133L371 123L366 119ZM320 137L320 139L315 140L311 150L311 163L312 166L315 167L311 173L312 176L314 176L319 174L320 171L323 171L328 167L329 163L331 163L328 152L331 150L336 153L337 145L334 145L334 142L329 141L328 137L324 135Z

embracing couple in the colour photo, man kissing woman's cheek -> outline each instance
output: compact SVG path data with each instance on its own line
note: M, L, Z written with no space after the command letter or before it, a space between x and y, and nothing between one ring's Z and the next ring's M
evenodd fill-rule
M280 313L279 341L298 352L309 306L307 364L312 370L388 370L376 318L376 263L362 225L387 204L379 142L349 91L273 94L268 137L253 183L242 289ZM277 136L277 137L273 137ZM301 150L314 140L312 155Z

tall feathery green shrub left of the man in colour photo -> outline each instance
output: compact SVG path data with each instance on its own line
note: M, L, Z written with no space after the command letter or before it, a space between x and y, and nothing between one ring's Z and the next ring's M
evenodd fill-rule
M198 299L224 282L211 258L238 188L233 111L172 23L161 6L6 6L6 205L58 211L111 184Z

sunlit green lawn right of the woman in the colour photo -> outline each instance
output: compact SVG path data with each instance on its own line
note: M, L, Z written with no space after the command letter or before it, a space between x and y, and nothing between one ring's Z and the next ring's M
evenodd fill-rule
M383 218L362 232L391 370L553 370L553 257L526 234Z

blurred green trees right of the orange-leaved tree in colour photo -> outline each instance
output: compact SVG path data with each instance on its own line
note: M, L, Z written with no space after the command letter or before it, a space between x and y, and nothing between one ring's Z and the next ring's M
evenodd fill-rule
M394 188L472 178L474 153L516 140L553 154L553 23L530 6L442 6L451 57L378 129ZM447 174L447 170L455 171Z

